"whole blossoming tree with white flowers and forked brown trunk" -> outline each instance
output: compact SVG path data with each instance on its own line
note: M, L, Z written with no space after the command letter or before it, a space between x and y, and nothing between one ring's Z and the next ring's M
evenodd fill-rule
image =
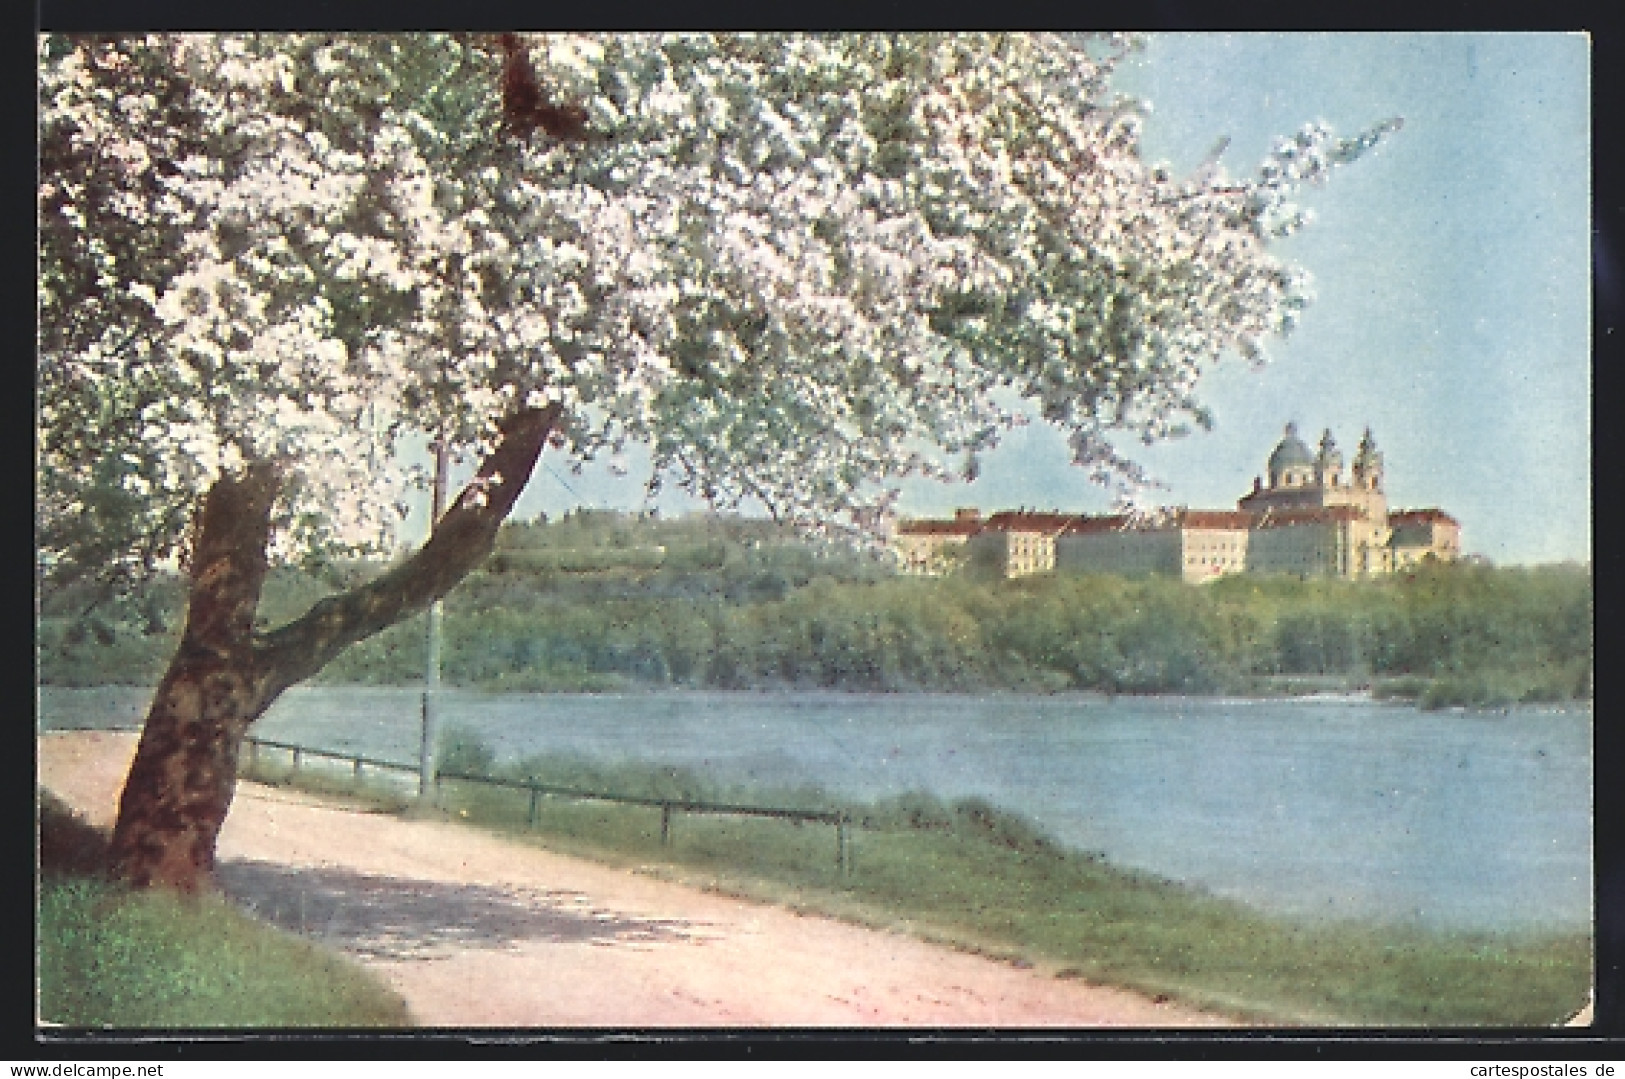
M476 569L548 445L863 530L1029 410L1100 474L1204 421L1198 374L1306 302L1294 190L1391 125L1175 179L1128 47L42 37L41 574L190 577L114 871L203 886L254 720ZM431 538L260 626L273 561L390 544L410 437L478 460Z

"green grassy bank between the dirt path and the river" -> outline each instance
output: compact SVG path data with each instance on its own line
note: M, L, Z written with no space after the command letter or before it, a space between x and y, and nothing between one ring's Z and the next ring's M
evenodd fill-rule
M453 736L445 760L489 767ZM543 798L445 782L439 812L697 887L910 934L1120 985L1256 1024L1544 1027L1575 1012L1591 982L1591 939L1458 936L1384 926L1305 926L1060 847L1030 822L980 801L905 796L840 806L816 790L718 788L673 769L536 759L505 770L541 782L655 798L845 809L853 871L835 864L835 830L786 821L678 814L661 845L660 811ZM284 780L286 774L262 772ZM306 774L302 782L325 783ZM375 793L382 801L398 795Z

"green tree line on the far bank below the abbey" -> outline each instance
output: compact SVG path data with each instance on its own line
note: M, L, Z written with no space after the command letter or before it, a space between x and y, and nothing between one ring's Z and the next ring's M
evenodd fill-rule
M275 622L364 572L281 569ZM1376 582L1105 575L910 578L769 522L572 514L509 525L447 603L444 676L492 689L1100 691L1370 687L1424 707L1589 699L1591 572L1425 566ZM47 603L41 678L151 682L179 582L124 608ZM83 598L81 598L83 600ZM422 678L422 626L356 645L328 682Z

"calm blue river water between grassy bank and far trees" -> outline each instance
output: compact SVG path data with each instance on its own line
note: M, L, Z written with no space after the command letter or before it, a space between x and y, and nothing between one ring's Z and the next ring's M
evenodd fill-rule
M146 691L41 689L41 728L136 725ZM421 692L299 687L265 738L411 762ZM1591 710L1363 700L444 691L499 756L687 765L722 783L982 796L1055 838L1306 920L1591 923Z

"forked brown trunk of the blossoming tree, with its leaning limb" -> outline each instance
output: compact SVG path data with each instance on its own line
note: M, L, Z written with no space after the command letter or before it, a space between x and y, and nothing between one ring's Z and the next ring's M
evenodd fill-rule
M236 793L249 726L284 689L358 640L422 611L478 569L557 418L556 405L512 413L491 457L416 554L270 634L254 632L254 616L280 476L255 465L210 489L193 540L187 626L153 696L119 801L109 850L115 878L182 892L211 884L214 842Z

